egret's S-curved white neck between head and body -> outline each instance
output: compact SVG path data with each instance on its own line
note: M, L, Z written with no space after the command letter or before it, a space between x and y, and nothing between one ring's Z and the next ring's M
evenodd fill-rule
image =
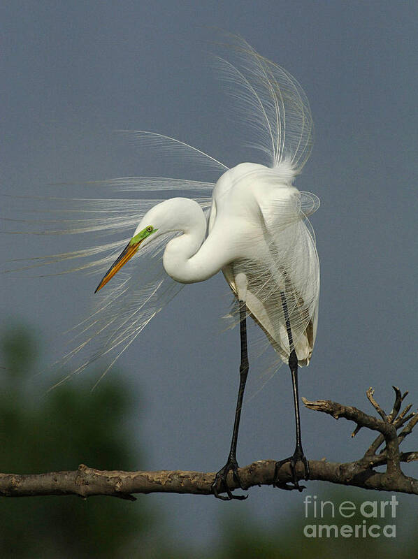
M187 201L191 202L191 201ZM203 282L222 268L210 235L206 235L206 218L198 203L186 203L178 226L173 231L182 231L180 237L168 242L163 264L169 276L182 284ZM203 243L203 245L202 245ZM215 251L214 251L215 248ZM218 247L220 252L220 249Z

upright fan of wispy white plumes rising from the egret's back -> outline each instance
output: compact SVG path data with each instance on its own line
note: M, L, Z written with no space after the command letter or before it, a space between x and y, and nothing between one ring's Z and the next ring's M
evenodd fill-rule
M250 126L250 147L264 152L266 165L287 162L298 173L312 146L312 115L301 85L284 68L262 57L243 38L226 34L227 59L218 57L233 108Z

